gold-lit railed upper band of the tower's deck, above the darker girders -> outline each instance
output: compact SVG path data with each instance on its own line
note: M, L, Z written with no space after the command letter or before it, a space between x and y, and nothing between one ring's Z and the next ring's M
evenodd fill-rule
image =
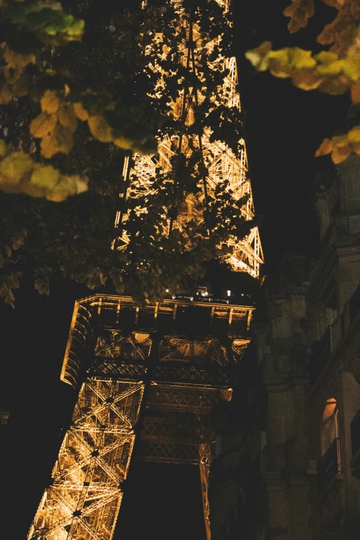
M157 380L226 386L228 354L231 352L232 361L241 359L250 341L248 330L253 310L253 306L190 299L148 302L143 308L126 296L96 294L79 300L75 303L61 380L77 388L89 353L95 357L87 366L91 374L143 379L148 370L146 358L154 348L159 359L154 368ZM181 322L184 312L188 326ZM102 330L94 350L90 351L95 321ZM186 335L199 321L203 321L199 326L203 337L194 339ZM124 333L123 326L129 328L129 324L131 331ZM152 343L152 332L163 335L156 346ZM229 348L221 345L219 337L222 343L228 341Z

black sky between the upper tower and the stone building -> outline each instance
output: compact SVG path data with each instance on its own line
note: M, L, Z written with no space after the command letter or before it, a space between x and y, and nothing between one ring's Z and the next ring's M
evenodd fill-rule
M320 50L316 37L334 10L315 0L315 17L296 34L287 31L282 11L290 0L235 0L239 84L245 112L246 142L255 209L264 217L261 238L266 274L274 274L282 254L312 254L318 236L312 208L314 172L323 159L314 153L325 137L342 128L348 97L305 92L290 79L255 72L243 50L269 40L273 48Z

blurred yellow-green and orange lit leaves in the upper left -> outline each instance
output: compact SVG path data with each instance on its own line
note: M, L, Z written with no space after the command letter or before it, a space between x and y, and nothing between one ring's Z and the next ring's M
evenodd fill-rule
M59 153L68 154L74 146L74 133L79 121L86 121L92 137L103 143L114 143L119 148L137 152L155 150L154 134L149 134L149 130L131 126L130 137L127 134L128 128L121 130L110 126L106 114L109 111L117 113L110 95L99 94L91 88L79 88L78 83L73 84L76 77L72 77L72 74L43 68L41 52L44 46L66 46L70 41L81 40L84 30L81 19L64 13L61 3L53 0L1 0L0 18L14 32L23 32L23 43L19 50L14 50L17 44L10 43L12 30L9 31L8 39L2 37L0 58L5 68L0 74L0 105L7 105L26 95L40 103L41 113L30 122L30 134L41 139L41 157L51 159ZM26 40L29 34L34 39L28 43ZM11 163L12 173L9 173L10 176L3 173L0 189L23 192L33 197L40 197L42 193L53 201L62 201L69 194L79 192L79 186L82 186L80 191L83 190L83 181L57 173L60 180L56 186L50 189L49 177L50 184L44 186L42 181L41 191L34 181L28 179L28 171L23 171L26 163L29 167L30 163L35 167L32 157L18 153L6 159L9 167ZM18 174L14 172L17 167Z

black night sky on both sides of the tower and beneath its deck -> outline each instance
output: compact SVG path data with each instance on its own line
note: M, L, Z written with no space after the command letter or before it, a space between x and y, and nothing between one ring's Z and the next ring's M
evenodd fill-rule
M332 10L318 2L318 17L290 36L282 16L289 0L235 1L241 102L255 208L264 219L261 237L266 274L276 276L285 252L312 254L317 227L312 210L313 155L324 137L343 127L348 100L293 88L290 81L254 74L243 51L265 39L275 47L314 48ZM318 160L319 161L319 160ZM86 288L56 281L50 298L24 283L15 310L0 307L2 370L0 401L11 412L1 433L1 530L22 539L37 508L57 454L57 436L72 403L59 381L74 300ZM143 537L203 540L197 468L134 463L115 539ZM176 489L174 489L176 486Z

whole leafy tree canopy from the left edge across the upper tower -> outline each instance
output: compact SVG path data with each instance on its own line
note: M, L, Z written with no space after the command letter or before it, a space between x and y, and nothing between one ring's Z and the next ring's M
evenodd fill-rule
M190 157L174 155L170 170L159 168L151 194L126 196L124 154L132 159L132 150L153 152L164 134L191 137L204 128L236 151L242 136L239 110L225 107L221 90L226 72L219 59L232 46L229 19L217 2L183 2L204 44L220 37L213 50L203 47L196 73L181 62L174 3L141 5L1 2L0 297L7 303L29 274L42 294L61 274L92 289L110 280L119 294L139 301L161 299L182 277L199 277L229 234L243 237L254 226L241 219L243 201L236 203L224 185L206 204L197 201L206 223L192 220L183 232L163 234L203 183L196 149ZM188 126L170 111L190 86L201 100ZM111 249L117 210L127 216L123 250Z

